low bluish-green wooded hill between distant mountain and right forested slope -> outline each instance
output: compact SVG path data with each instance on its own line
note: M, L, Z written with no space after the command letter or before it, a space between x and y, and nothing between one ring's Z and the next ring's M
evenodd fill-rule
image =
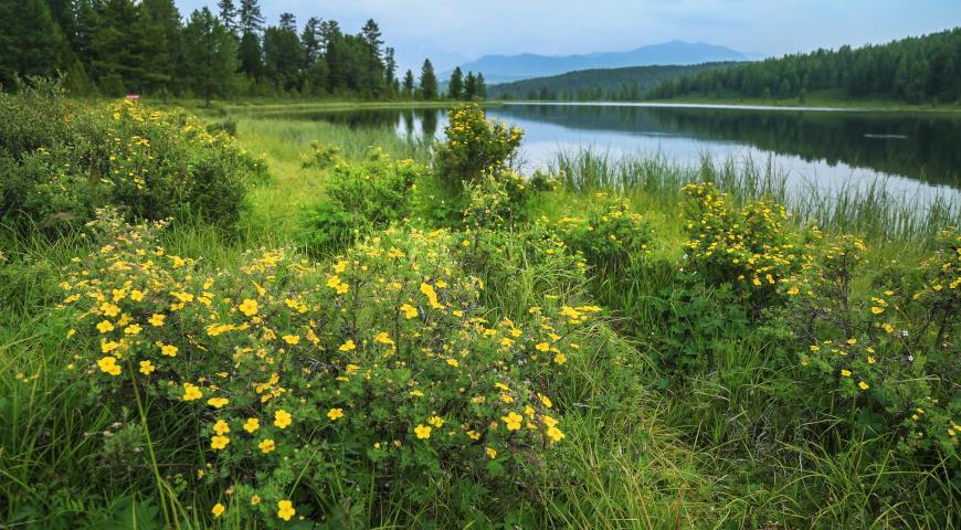
M495 99L635 100L661 83L736 63L581 70L488 88Z

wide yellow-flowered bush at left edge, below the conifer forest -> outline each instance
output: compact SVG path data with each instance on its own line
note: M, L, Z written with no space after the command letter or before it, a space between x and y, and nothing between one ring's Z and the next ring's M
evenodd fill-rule
M36 82L0 94L0 219L30 227L81 225L110 204L130 219L230 226L265 166L183 113L88 106Z

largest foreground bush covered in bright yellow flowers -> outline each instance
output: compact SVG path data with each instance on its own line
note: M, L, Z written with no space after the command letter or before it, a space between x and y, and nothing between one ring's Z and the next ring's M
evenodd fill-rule
M193 466L210 517L316 521L400 484L414 510L441 485L485 506L522 496L566 437L550 395L600 308L551 297L497 317L446 231L210 271L158 246L162 222L106 212L94 230L102 246L61 285L83 384L118 415L142 409L155 469Z

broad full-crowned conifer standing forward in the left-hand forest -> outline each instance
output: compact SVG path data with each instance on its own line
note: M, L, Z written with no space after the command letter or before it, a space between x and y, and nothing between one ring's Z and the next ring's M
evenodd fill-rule
M193 11L183 30L190 86L210 106L213 96L226 96L236 71L234 40L210 9Z

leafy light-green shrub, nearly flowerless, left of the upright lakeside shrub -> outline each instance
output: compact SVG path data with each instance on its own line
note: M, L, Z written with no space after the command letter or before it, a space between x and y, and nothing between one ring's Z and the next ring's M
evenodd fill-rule
M413 160L391 160L378 147L358 163L338 160L326 200L306 212L304 243L313 251L330 250L406 218L411 192L427 172Z

